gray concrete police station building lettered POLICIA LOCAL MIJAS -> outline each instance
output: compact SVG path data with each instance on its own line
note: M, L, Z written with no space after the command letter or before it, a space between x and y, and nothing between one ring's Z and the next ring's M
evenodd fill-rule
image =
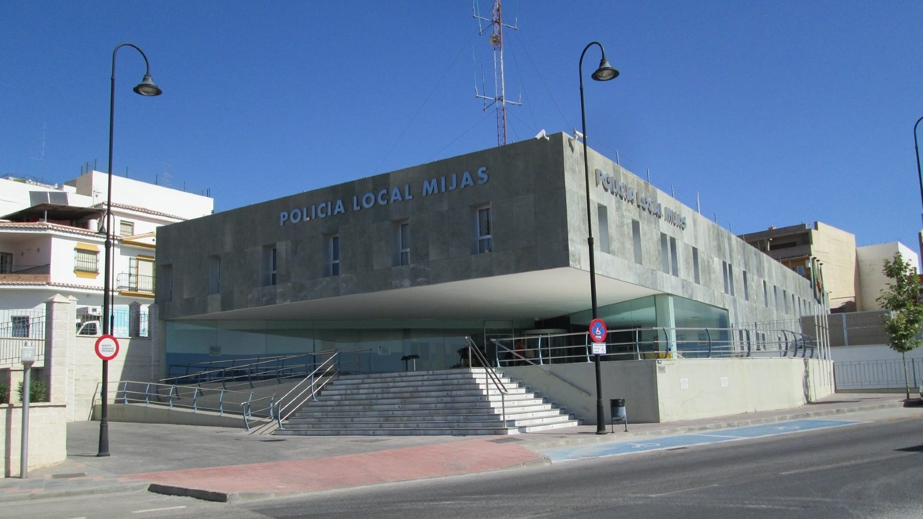
M162 227L165 365L340 348L366 351L367 372L403 371L408 355L434 370L459 364L465 336L493 358L491 339L584 332L582 153L557 134ZM832 392L820 361L683 355L701 336L678 329L817 313L809 282L593 150L589 165L599 316L610 330L677 329L604 362L605 397L668 421ZM503 369L594 418L592 363Z

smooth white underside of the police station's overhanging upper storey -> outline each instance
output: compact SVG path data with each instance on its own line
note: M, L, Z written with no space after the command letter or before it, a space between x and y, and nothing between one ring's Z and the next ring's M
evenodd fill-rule
M604 276L597 277L596 290L599 306L659 293ZM589 274L562 267L207 313L183 320L532 320L576 313L589 307Z

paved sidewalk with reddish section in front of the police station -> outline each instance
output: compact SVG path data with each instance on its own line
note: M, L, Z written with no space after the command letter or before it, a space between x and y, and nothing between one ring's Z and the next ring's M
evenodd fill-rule
M276 437L227 428L110 422L109 457L96 457L99 422L67 429L67 460L30 478L0 479L0 502L150 490L210 501L440 478L550 463L564 446L623 442L792 419L905 407L903 395L836 394L795 409L671 423L617 424L509 436ZM630 407L628 409L631 419ZM612 431L612 426L606 427ZM143 472L142 472L143 470Z

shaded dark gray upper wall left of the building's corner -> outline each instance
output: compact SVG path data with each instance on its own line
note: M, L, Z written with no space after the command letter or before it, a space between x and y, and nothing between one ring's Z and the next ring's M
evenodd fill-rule
M172 272L158 274L162 318L568 266L560 147L560 136L529 139L162 227L158 264ZM466 173L473 185L462 188ZM449 190L453 175L459 186ZM425 196L433 179L439 192ZM391 201L395 189L402 200ZM382 190L389 203L362 206L366 193L378 198ZM341 214L281 225L283 211L311 212L338 200ZM492 210L494 248L473 254L474 215L485 205ZM393 266L396 226L404 220L411 265ZM341 275L326 277L333 233L340 237ZM277 247L276 286L262 283L264 246ZM220 294L209 294L206 259L213 255L221 256ZM170 290L162 286L167 278Z

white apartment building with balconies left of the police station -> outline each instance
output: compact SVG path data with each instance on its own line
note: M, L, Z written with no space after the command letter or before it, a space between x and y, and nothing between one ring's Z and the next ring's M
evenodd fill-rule
M78 314L102 306L108 180L102 171L63 185L0 179L0 326L13 324L8 311L40 308L55 294L75 298ZM154 297L157 228L210 215L214 203L126 177L112 184L114 308L146 308Z

